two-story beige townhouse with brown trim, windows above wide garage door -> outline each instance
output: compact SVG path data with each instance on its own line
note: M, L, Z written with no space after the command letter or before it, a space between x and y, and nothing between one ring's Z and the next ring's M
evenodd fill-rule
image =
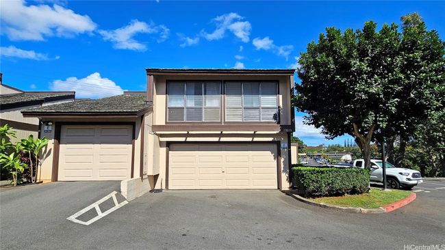
M293 77L294 70L148 68L160 141L156 187L288 189Z

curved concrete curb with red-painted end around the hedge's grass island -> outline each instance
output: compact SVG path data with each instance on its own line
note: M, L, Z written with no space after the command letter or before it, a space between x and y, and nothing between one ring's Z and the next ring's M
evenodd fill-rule
M292 191L287 191L287 192L285 192L285 194L289 195L290 197L292 197L300 202L304 202L305 204L309 204L312 206L318 206L320 208L329 208L329 209L343 211L343 212L355 212L357 214L383 214L383 213L387 213L387 212L392 212L398 208L401 208L401 207L411 203L412 201L414 201L414 199L416 199L416 193L411 193L405 199L401 199L398 202L388 204L388 205L384 206L383 208L369 208L369 209L367 209L367 208L350 208L350 207L344 207L344 206L333 206L333 205L325 204L325 203L316 203L316 202L312 202L309 199L306 199L305 197L301 197L300 195L297 195L296 193L294 193Z

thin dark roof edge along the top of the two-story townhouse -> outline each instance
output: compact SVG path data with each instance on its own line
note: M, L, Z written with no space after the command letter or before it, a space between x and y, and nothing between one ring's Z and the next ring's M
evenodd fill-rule
M275 74L293 75L292 69L236 69L236 68L146 68L147 74Z

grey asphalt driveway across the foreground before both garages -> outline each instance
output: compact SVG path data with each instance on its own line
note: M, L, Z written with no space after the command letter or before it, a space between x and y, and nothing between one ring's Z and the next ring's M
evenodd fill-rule
M15 199L12 191L0 193L1 249L404 249L445 244L444 189L436 189L434 196L433 191L418 192L416 201L390 214L326 210L280 191L164 191L147 193L85 226L66 217L118 185L98 184L104 185L102 194L88 201L80 194L93 192L92 186L47 185L41 189L69 194L54 199L40 187ZM27 208L25 217L21 206Z

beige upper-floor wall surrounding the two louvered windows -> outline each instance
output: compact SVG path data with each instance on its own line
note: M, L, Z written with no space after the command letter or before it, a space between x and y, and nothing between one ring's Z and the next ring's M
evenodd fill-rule
M154 125L166 124L166 80L194 80L194 81L279 81L279 106L281 107L280 122L283 125L291 124L290 117L290 88L292 87L293 77L289 76L250 76L250 75L233 75L233 76L188 76L188 75L170 75L170 76L155 76L153 83L153 115ZM224 106L224 104L223 104ZM224 121L223 121L224 122Z

